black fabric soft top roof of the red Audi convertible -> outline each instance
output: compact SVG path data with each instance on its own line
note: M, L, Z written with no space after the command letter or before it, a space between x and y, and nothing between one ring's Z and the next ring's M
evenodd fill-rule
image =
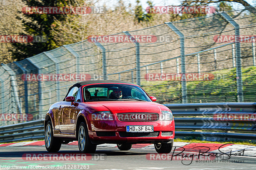
M84 85L87 85L87 84L94 84L94 83L127 83L127 84L134 84L134 83L131 83L129 81L121 81L121 80L89 80L89 81L80 81L80 82L74 84L73 86L71 86L68 89L68 93L74 87L80 88L81 86L84 86ZM65 98L68 97L68 93L66 94ZM65 98L63 99L63 101L65 101Z

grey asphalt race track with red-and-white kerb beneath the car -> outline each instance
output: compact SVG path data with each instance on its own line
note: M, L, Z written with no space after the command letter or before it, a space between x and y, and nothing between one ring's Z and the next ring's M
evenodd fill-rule
M116 145L104 144L97 147L95 154L86 155L79 153L77 145L62 145L58 153L49 153L44 146L33 146L33 144L24 146L22 143L14 145L16 146L2 144L2 147L0 147L0 170L256 169L256 147L249 145L228 144L224 147L221 146L223 144L175 142L169 155L157 154L154 145L149 144L133 145L133 148L129 151L120 151ZM202 152L208 150L206 147L210 148L207 153L212 153L212 155L208 157L201 155L198 159L199 152L202 154ZM183 152L182 148L184 148ZM216 153L219 153L217 154L219 157L216 156ZM172 157L175 154L179 155ZM220 154L222 155L220 156Z

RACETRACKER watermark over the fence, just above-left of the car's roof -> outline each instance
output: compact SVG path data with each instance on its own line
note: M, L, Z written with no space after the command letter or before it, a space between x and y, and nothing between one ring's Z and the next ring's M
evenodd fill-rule
M22 74L23 81L88 81L100 80L97 74Z

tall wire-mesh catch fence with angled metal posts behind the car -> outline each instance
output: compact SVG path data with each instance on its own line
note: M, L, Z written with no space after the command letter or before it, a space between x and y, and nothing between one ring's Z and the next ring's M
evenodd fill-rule
M133 36L133 42L87 39L2 64L1 114L42 118L79 81L76 75L75 81L65 81L60 74L130 81L156 96L158 103L255 102L255 25L256 8L252 7L111 35ZM136 39L142 35L158 41ZM27 74L37 77L26 81ZM58 75L59 80L38 81L41 75ZM19 122L1 121L0 125Z

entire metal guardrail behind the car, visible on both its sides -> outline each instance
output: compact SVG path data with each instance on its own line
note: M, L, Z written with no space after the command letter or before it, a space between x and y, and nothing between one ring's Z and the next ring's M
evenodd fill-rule
M175 138L256 142L255 119L218 120L213 117L217 114L250 114L256 117L256 103L164 105L172 110L175 120ZM0 127L0 143L36 139L44 139L44 119Z

